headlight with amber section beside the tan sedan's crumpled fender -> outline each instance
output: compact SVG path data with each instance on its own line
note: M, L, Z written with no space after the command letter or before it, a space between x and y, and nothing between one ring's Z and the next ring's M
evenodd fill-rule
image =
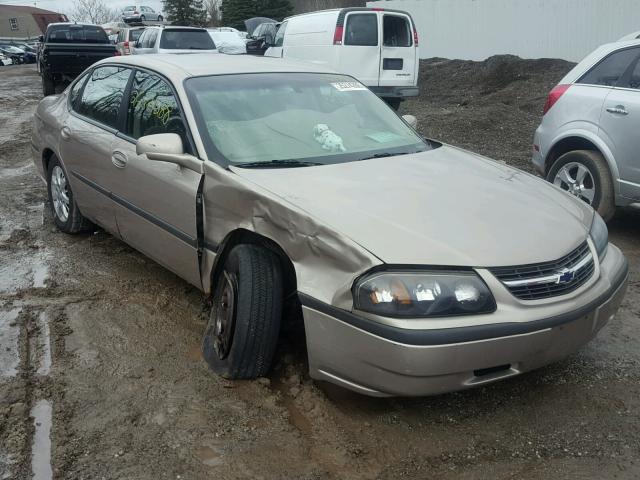
M446 317L495 311L473 272L378 272L354 287L355 308L385 317Z

